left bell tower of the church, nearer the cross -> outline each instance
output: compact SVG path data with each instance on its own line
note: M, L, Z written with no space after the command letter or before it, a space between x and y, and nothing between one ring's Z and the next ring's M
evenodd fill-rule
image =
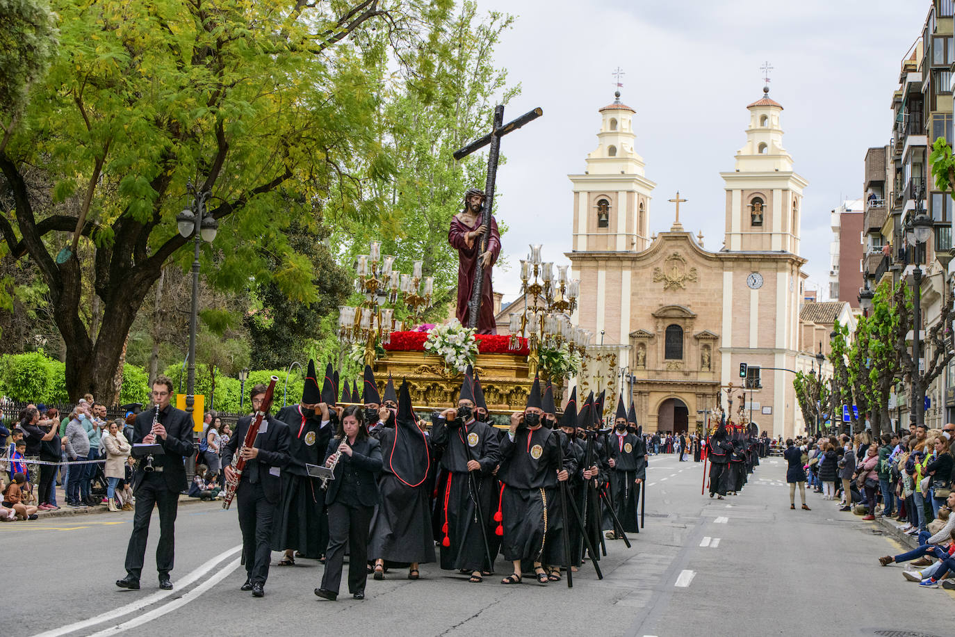
M583 175L568 175L574 188L575 252L640 252L649 245L650 193L656 186L634 150L634 110L620 101L600 109L597 149Z

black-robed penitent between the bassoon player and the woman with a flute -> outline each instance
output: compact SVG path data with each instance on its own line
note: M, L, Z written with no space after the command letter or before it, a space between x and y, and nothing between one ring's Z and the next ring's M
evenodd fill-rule
M278 419L288 425L291 461L282 472L282 499L275 511L272 550L294 549L317 560L329 545L329 518L325 492L318 478L309 478L306 463L323 463L333 434L333 421L322 426L321 414L303 416L301 405L282 408Z

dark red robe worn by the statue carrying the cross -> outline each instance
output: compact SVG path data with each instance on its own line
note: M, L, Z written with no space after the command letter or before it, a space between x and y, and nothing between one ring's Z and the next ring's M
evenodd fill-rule
M469 232L477 230L479 225L480 217L477 218L475 225L468 225L455 215L452 217L451 227L448 229L448 243L457 250L457 308L455 315L464 327L468 325L468 303L471 301L471 292L475 283L477 250L480 247L479 237L469 244L467 235ZM498 233L498 222L495 221L494 217L491 217L491 237L487 249L491 251L492 257L491 265L484 268L484 286L481 287L477 333L497 334L498 329L494 322L494 292L491 291L491 270L494 269L494 264L498 262L500 235Z

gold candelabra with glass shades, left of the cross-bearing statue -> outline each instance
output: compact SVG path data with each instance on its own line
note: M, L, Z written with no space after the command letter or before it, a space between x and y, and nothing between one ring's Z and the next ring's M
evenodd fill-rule
M369 254L360 254L355 264L354 290L365 295L357 306L338 307L338 338L342 343L365 345L365 363L373 365L375 347L388 345L392 332L406 329L406 321L394 318L400 300L409 309L408 316L417 321L432 305L434 277L424 277L422 286L420 261L415 261L411 275L394 267L392 255L381 255L381 242L372 241ZM393 307L386 307L393 306Z

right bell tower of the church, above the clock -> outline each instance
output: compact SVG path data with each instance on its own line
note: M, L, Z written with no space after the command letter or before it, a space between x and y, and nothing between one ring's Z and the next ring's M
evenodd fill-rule
M763 87L747 106L746 145L736 153L735 170L720 173L726 189L726 246L731 251L799 253L802 190L809 182L793 170L783 148L782 105Z

